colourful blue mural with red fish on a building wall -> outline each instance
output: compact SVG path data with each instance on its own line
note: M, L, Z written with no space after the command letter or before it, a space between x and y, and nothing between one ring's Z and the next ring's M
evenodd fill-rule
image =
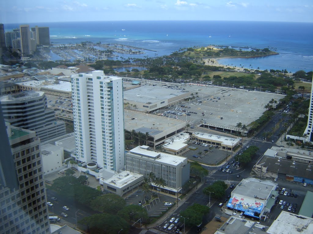
M264 204L252 201L251 199L244 199L243 197L233 197L229 199L227 207L235 208L235 210L244 212L248 212L250 210L251 213L260 213L263 210Z

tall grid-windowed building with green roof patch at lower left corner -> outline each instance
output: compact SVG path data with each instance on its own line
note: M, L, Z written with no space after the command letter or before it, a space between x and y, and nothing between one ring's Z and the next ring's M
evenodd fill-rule
M50 233L40 140L6 125L0 110L0 233Z

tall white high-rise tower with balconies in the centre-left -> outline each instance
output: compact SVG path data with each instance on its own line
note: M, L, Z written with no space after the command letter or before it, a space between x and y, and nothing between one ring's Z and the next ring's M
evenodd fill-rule
M103 71L71 76L76 160L115 172L124 168L123 82Z

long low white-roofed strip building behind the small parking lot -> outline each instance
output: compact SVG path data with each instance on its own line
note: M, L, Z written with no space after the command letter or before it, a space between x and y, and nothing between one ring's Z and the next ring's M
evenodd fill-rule
M202 133L202 132L192 133L192 140L206 143L209 145L218 145L218 146L221 146L221 149L224 149L224 150L233 150L240 143L240 139L207 134L207 133Z

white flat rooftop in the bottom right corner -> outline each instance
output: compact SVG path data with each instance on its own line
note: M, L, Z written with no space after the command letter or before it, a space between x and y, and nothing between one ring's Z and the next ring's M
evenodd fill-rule
M302 215L282 211L267 230L268 234L311 234L313 219Z

